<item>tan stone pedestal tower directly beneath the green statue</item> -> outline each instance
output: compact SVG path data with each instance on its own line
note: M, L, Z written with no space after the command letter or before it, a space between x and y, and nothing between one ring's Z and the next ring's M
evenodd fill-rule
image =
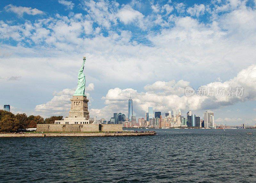
M90 118L88 111L88 99L86 96L76 96L73 95L71 100L71 110L69 111L68 118L85 118L88 120Z

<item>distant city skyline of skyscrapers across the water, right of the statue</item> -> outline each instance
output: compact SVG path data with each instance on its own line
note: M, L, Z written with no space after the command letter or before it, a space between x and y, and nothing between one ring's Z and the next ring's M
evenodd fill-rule
M132 99L128 100L128 115L132 111ZM173 115L172 115L173 114ZM125 114L122 113L114 113L113 117L110 118L109 121L105 120L100 121L104 124L122 124L123 127L149 127L149 128L169 128L169 127L205 127L205 128L214 128L215 126L219 126L220 124L214 123L214 112L213 111L205 111L203 114L203 118L196 116L196 114L192 114L192 111L189 110L187 112L187 117L184 118L180 109L169 111L165 113L165 116L162 116L161 111L155 111L155 115L153 113L153 107L148 107L148 112L146 113L145 118L136 119L136 114L133 113L131 119L125 117ZM121 118L120 118L121 117ZM122 118L123 117L123 118ZM93 119L94 120L94 119ZM96 121L95 119L94 121ZM221 124L223 125L223 124ZM225 124L226 125L226 124ZM244 125L244 124L243 124ZM252 124L250 124L252 125ZM252 125L254 126L254 125ZM256 126L256 125L255 125Z

